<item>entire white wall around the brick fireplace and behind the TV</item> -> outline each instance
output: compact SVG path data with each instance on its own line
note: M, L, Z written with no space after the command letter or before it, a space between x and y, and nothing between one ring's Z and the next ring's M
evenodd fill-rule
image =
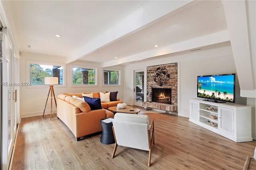
M178 115L189 117L189 99L197 96L197 76L236 73L231 46L184 55L164 55L151 61L132 63L124 66L124 77L131 77L136 69L147 66L178 62ZM146 77L145 77L146 81ZM240 89L236 78L236 102L246 104L246 98L239 97ZM146 82L145 87L146 89ZM124 83L124 102L133 103L133 81ZM146 96L145 96L146 97ZM146 98L145 98L146 99Z

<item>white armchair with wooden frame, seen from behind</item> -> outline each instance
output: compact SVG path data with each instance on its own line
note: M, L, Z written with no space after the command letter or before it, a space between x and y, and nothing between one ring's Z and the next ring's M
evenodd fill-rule
M151 161L151 148L154 140L154 120L151 124L147 115L116 113L113 132L116 140L112 158L118 145L149 151L148 166Z

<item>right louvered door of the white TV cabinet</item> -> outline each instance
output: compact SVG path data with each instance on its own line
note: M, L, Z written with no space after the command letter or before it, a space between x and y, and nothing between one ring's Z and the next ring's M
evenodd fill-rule
M234 110L219 107L219 130L234 134Z

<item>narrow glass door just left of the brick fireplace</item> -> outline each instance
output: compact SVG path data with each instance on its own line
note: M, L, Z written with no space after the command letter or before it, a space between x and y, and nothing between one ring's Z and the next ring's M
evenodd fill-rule
M144 101L144 70L134 71L134 105L142 107Z

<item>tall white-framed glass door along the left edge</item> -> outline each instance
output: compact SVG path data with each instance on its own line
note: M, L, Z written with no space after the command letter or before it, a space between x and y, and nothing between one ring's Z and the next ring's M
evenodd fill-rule
M1 168L8 169L14 147L14 101L13 101L13 87L15 82L13 79L13 45L8 40L6 34L0 32L2 42L2 52L7 61L1 63L1 94L2 94L2 155ZM3 35L4 34L4 35Z

